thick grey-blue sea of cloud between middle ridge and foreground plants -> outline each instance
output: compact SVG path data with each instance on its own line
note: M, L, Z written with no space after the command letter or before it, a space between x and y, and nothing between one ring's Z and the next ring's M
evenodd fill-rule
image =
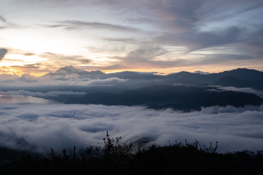
M103 146L106 130L120 143L139 139L193 142L209 146L218 141L218 152L262 150L263 107L209 107L200 112L181 113L170 109L146 110L145 107L0 104L0 145L13 149L31 149L48 153L51 147L84 149ZM82 150L81 150L82 151Z

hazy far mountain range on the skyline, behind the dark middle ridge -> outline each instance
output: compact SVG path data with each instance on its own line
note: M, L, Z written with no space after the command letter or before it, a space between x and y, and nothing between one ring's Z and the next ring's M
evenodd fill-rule
M65 66L55 72L50 72L42 77L52 77L55 75L77 74L79 76L89 77L91 79L107 79L117 77L120 79L129 79L120 91L125 89L137 89L143 86L170 84L185 86L234 86L234 87L251 87L256 90L263 91L263 72L238 68L235 70L224 71L220 73L200 74L181 71L169 75L142 74L138 72L124 71L117 73L103 73L101 71L85 71L74 68L73 66ZM121 90L122 89L122 90ZM105 89L107 91L107 89ZM110 91L109 91L110 92Z

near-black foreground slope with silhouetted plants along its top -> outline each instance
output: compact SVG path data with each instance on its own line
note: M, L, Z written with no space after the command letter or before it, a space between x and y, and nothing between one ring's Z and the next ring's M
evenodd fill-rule
M133 142L119 144L107 132L104 149L89 146L84 153L57 153L49 157L22 155L20 160L1 162L0 174L262 174L263 151L216 153L198 141L175 141L164 147L144 147ZM116 142L115 142L116 141ZM115 146L114 146L115 145ZM0 152L2 153L2 152Z

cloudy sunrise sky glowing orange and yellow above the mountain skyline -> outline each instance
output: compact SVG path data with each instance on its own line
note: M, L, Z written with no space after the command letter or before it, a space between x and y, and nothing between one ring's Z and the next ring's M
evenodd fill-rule
M2 0L0 73L263 71L258 0Z

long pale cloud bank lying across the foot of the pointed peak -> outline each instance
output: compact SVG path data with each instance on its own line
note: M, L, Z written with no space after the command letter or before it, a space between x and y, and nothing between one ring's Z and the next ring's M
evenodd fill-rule
M116 77L107 79L92 79L89 75L55 75L51 77L34 77L29 74L17 75L0 74L1 89L4 91L24 89L27 91L89 91L89 88L122 85L128 79ZM88 90L89 89L89 90Z

